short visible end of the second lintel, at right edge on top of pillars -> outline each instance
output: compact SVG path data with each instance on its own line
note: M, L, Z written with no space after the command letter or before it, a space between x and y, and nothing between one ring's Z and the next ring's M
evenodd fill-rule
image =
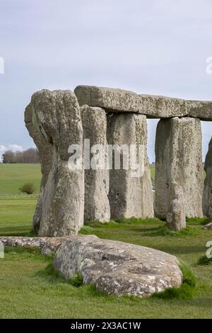
M212 101L187 101L190 117L212 121Z

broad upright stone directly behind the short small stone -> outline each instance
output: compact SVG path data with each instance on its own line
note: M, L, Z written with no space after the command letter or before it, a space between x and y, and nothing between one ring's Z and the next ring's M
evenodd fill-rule
M155 215L165 219L172 205L172 184L182 191L177 210L188 218L203 216L204 172L201 154L201 123L196 118L160 120L155 138ZM184 197L184 203L179 199Z

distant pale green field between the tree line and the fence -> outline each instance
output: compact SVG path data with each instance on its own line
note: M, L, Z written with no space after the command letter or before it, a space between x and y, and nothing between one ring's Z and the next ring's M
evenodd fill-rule
M18 193L20 186L27 182L40 188L40 164L0 164L0 194Z

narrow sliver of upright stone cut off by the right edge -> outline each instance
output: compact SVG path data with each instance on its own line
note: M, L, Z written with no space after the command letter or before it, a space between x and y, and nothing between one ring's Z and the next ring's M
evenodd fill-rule
M203 212L212 220L212 138L208 145L204 169L206 178L204 181Z

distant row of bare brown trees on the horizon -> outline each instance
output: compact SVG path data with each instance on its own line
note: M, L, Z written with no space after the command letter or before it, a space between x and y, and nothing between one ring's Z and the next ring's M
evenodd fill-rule
M3 163L40 163L38 150L30 148L23 152L6 151L2 155Z

